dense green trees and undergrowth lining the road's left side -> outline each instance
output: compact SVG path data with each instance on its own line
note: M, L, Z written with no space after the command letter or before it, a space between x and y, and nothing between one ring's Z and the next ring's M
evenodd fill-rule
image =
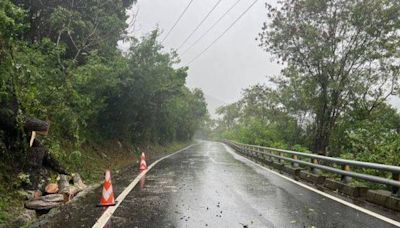
M0 1L0 223L27 174L24 119L50 122L42 143L71 172L94 180L114 158L128 162L121 154L191 140L208 118L202 91L185 86L187 68L163 50L159 31L127 34L132 4ZM120 40L129 49L119 50ZM131 149L112 149L121 145Z

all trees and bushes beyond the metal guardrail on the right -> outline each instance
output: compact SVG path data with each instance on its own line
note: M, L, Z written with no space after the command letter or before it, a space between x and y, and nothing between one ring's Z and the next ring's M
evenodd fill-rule
M260 47L283 70L218 109L216 135L400 165L400 2L266 5ZM398 103L398 102L397 102Z

